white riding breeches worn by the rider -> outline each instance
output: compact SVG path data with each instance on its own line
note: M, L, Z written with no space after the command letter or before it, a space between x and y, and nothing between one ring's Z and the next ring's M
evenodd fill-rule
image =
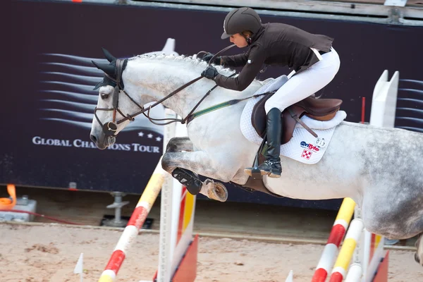
M331 48L331 51L321 55L321 58L320 61L314 63L306 71L302 71L290 78L266 101L266 104L264 104L266 114L272 108L278 108L283 111L288 106L321 90L333 80L341 64L338 53Z

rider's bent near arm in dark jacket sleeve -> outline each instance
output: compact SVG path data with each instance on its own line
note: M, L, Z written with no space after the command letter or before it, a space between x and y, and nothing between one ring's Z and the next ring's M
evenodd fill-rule
M255 79L257 73L263 66L265 59L264 51L259 45L255 45L250 50L250 55L240 75L236 78L228 78L225 75L216 75L214 81L217 85L231 90L243 91Z

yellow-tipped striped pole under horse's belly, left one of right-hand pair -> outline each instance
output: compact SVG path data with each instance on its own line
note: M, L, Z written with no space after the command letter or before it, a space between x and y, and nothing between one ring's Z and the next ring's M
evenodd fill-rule
M317 264L316 271L314 271L312 282L326 281L329 270L335 261L336 251L338 250L339 245L341 245L345 231L347 230L351 218L353 217L354 208L355 202L353 199L345 198L343 200L335 222L333 223L329 239L321 254L319 263Z

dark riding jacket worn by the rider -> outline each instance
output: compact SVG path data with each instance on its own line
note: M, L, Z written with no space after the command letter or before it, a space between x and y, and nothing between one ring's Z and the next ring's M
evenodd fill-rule
M231 90L242 91L255 79L263 64L288 66L295 74L306 70L319 61L314 51L329 52L333 38L326 35L313 35L292 25L267 23L251 37L249 49L235 56L222 56L223 66L244 66L236 78L217 75L217 85Z

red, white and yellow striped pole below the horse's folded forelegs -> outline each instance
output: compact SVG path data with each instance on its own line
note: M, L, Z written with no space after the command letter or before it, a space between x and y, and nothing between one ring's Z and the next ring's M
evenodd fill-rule
M114 282L116 280L116 275L119 269L121 269L126 252L135 240L135 237L137 237L145 219L147 219L150 209L152 209L156 201L157 195L159 195L165 173L163 168L161 168L160 158L98 282Z

